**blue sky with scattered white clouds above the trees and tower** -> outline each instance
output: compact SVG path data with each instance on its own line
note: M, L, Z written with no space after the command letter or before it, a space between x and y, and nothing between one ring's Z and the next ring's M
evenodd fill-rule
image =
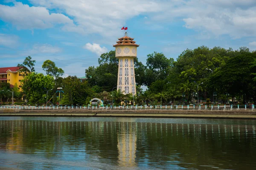
M256 0L0 0L0 67L50 59L84 76L128 27L139 61L205 45L256 50Z

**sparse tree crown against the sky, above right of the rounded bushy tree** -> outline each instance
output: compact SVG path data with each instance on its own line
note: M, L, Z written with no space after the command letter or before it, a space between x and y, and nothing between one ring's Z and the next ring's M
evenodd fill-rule
M61 68L56 67L55 62L49 59L44 61L42 68L46 71L47 75L53 76L55 79L64 74L64 71Z

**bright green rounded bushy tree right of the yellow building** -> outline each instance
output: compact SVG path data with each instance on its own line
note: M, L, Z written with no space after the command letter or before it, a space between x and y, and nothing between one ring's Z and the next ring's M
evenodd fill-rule
M38 73L31 73L21 80L22 90L29 102L35 103L39 100L44 101L43 95L46 93L45 89L52 89L54 86L54 79L52 76Z

